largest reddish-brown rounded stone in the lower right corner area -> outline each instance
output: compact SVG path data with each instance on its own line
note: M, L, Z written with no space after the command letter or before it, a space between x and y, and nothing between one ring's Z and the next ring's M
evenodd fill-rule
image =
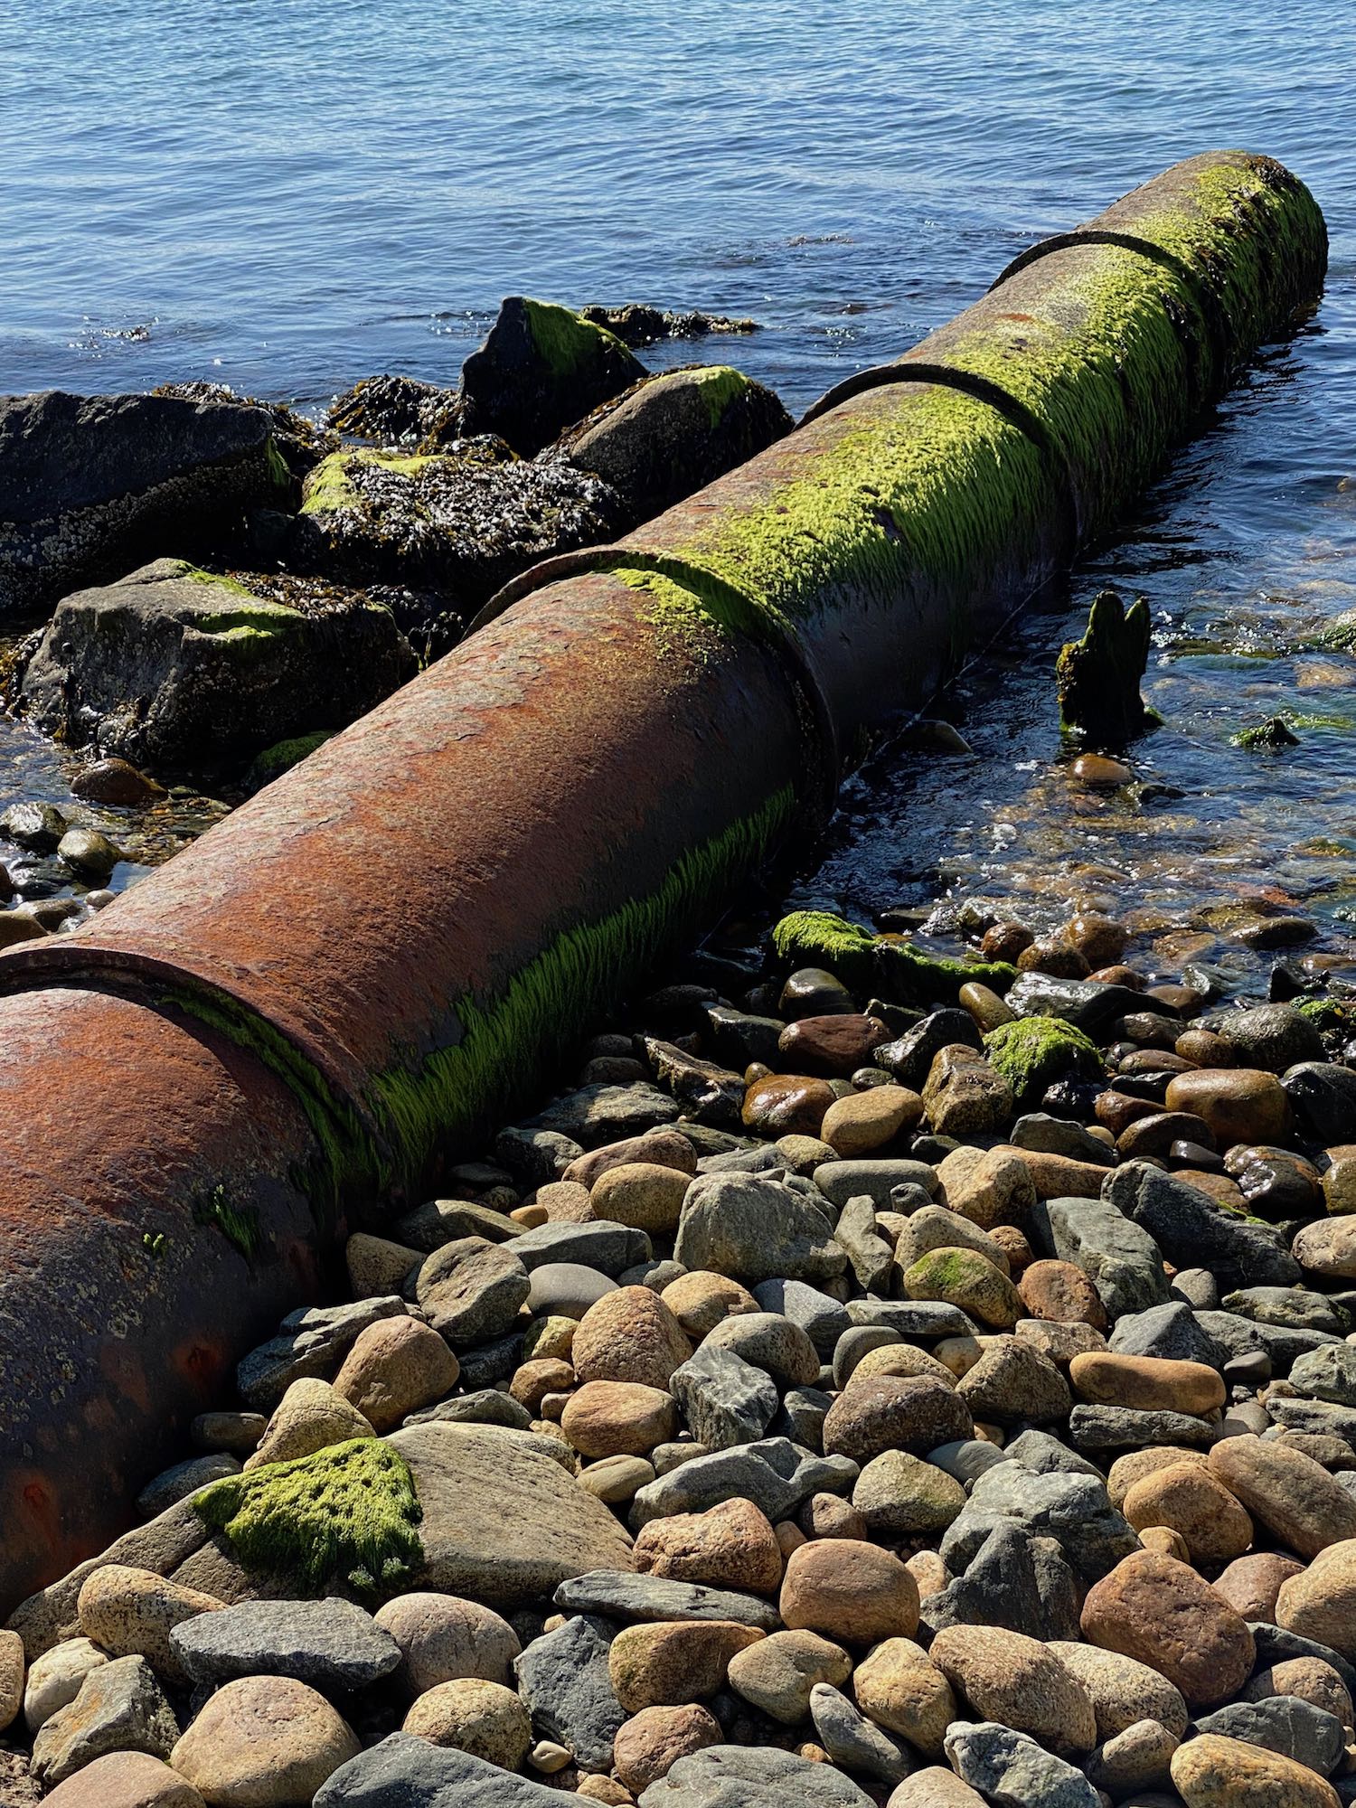
M1137 1658L1181 1690L1188 1709L1231 1701L1253 1671L1253 1634L1188 1564L1135 1551L1083 1602L1083 1636Z

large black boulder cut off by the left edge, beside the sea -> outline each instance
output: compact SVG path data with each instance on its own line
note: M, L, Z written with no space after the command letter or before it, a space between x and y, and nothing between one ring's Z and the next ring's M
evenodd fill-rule
M293 479L268 412L184 396L0 400L0 617L155 553L201 557Z

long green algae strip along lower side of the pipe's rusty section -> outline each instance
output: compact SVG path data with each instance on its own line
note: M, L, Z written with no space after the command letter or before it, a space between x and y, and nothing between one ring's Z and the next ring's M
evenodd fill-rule
M566 929L497 998L459 1000L456 1047L438 1049L418 1069L378 1074L367 1103L405 1172L419 1173L439 1141L488 1130L497 1110L539 1083L571 1047L580 1022L615 1002L631 976L767 862L796 808L794 785L774 792L749 817L691 848L647 897Z

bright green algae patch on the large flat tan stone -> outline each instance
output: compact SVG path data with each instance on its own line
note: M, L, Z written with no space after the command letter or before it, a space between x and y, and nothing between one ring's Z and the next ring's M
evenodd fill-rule
M228 1475L193 1510L248 1571L284 1577L302 1595L334 1577L365 1595L394 1589L423 1558L410 1466L380 1437Z

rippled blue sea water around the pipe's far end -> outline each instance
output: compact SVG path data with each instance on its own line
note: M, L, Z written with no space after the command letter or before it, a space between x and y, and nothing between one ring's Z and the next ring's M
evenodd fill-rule
M215 378L318 409L372 371L454 381L528 291L750 313L763 333L718 356L796 409L1023 244L1220 145L1318 193L1318 318L944 702L973 754L873 761L808 886L861 909L953 886L1032 917L1101 891L1164 955L1211 944L1204 904L1262 897L1338 942L1356 658L1309 642L1356 606L1347 9L9 0L0 391ZM1106 582L1155 618L1148 796L1094 797L1061 765L1050 667ZM1233 745L1278 712L1296 749ZM0 806L34 794L67 796L61 763L0 723Z

